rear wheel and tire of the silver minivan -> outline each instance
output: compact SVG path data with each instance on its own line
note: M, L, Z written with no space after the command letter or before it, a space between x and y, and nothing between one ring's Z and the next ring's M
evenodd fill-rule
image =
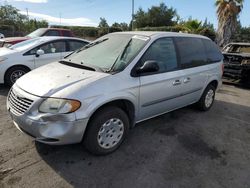
M215 87L211 84L207 86L200 100L197 102L197 107L201 111L208 111L214 103Z

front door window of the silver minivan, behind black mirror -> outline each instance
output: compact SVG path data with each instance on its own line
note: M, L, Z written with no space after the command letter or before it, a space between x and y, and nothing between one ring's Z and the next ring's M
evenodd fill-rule
M162 38L155 41L140 60L142 65L146 61L156 61L159 72L173 71L178 68L175 45L172 38Z

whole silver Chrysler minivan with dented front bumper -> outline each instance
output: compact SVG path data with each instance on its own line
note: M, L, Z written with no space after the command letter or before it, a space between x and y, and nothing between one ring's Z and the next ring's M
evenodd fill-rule
M116 150L136 123L197 103L209 110L223 56L210 39L167 32L105 35L23 76L7 109L37 141Z

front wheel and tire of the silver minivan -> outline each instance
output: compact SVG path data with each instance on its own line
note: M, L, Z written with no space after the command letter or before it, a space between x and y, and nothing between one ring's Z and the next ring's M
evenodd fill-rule
M95 155L107 155L115 151L129 131L129 119L120 108L105 107L91 118L83 144Z

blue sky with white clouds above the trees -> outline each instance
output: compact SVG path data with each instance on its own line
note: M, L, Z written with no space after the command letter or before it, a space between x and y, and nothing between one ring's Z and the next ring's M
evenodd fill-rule
M217 28L214 0L134 0L135 12L140 7L147 10L164 2L173 7L184 20L189 17L204 21L206 18ZM0 0L0 4L11 4L20 13L30 18L45 19L49 24L98 26L100 17L109 25L114 22L129 23L132 14L132 0ZM250 26L250 1L246 0L240 14L242 26Z

